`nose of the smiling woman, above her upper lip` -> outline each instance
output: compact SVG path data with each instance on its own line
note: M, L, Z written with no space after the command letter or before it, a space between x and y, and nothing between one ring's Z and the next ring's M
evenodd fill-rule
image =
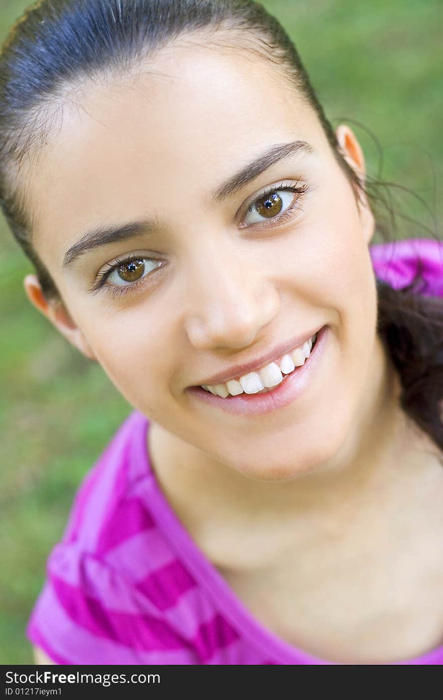
M185 330L196 349L247 347L278 314L280 297L264 274L266 261L244 258L218 251L215 260L200 255L194 265Z

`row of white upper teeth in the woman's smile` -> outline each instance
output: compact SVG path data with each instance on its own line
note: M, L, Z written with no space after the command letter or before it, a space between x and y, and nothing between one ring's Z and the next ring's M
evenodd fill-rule
M290 372L295 370L295 367L304 365L304 360L309 358L316 339L317 334L314 333L302 346L283 355L279 363L271 362L257 372L248 372L244 377L240 377L239 380L230 379L230 381L216 384L216 386L207 386L205 384L202 385L202 388L221 398L227 398L229 395L237 396L243 392L248 394L260 393L267 388L277 386L283 381L283 374L290 374Z

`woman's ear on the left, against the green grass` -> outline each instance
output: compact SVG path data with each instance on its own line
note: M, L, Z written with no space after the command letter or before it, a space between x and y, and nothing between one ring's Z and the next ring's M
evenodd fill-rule
M34 307L36 307L38 311L41 311L52 325L54 325L73 346L80 350L85 357L90 360L97 360L90 344L71 318L62 300L47 301L35 274L27 274L23 280L23 286L31 304L34 304Z

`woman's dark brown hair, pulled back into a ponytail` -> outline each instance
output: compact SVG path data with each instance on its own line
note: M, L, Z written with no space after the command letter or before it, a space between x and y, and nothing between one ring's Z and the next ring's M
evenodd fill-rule
M191 34L193 41L241 47L275 64L281 78L314 109L357 204L367 195L377 212L378 234L385 241L392 239L393 226L379 213L380 204L393 213L388 183L370 177L362 183L348 165L293 41L260 3L41 0L13 27L0 55L0 202L48 300L62 303L34 249L30 214L18 186L24 156L38 154L57 123L69 87L94 76L129 71L140 59ZM421 272L419 264L415 279L401 290L377 279L377 332L400 376L402 409L443 450L443 300L416 293Z

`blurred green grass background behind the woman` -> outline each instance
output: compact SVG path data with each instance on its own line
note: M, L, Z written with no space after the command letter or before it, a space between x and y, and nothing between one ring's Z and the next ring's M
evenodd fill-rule
M441 0L267 0L300 51L332 126L355 130L403 216L442 221ZM0 0L0 40L27 0ZM399 219L400 237L426 236ZM132 411L101 367L31 306L30 263L0 220L0 662L28 664L24 628L80 479Z

